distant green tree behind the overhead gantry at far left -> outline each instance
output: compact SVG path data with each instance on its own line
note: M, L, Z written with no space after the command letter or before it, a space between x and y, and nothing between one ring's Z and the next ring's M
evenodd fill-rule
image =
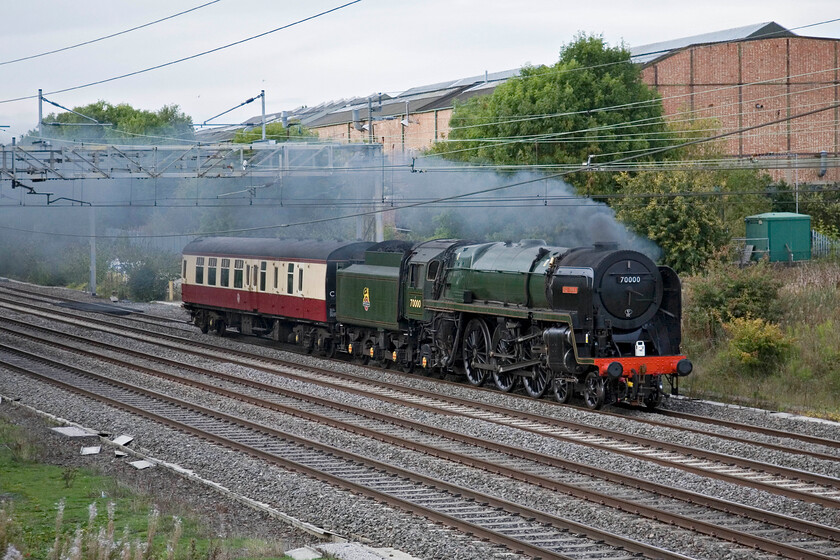
M195 137L192 118L185 115L177 105L164 105L157 111L147 111L135 109L127 103L112 105L107 101L97 101L75 107L73 111L75 113L50 113L44 117L44 136L75 142L143 144L171 143L173 140L192 140ZM90 119L101 123L101 126ZM37 130L28 133L29 136L37 134Z

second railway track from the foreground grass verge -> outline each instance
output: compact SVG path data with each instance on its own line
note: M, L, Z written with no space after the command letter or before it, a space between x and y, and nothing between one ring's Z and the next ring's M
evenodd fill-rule
M51 339L61 336L55 332L45 334ZM16 335L30 340L34 338L20 332ZM107 344L101 342L78 336L66 336L72 339L73 344L59 345L54 340L48 344L59 347L63 351L99 359L102 357L82 350L80 344L99 349L109 348ZM335 401L316 398L306 393L205 368L184 365L143 352L126 350L121 350L121 352L128 354L131 359L106 358L106 360L120 367L138 369L177 383L187 383L204 391L215 392L284 414L352 431L365 437L400 445L473 468L481 468L528 485L562 492L578 499L605 505L625 513L642 515L707 536L726 539L766 553L781 554L788 558L824 560L832 556L809 548L827 548L831 553L840 552L840 530L831 527L803 522L759 509L739 507L732 502L692 495L689 492L677 491L675 494L672 489L654 483L640 487L639 481L632 477L617 475L603 469L585 467L509 445L491 444L448 430L430 429L418 422L373 413ZM256 391L242 394L237 390L221 388L217 384L208 384L194 378L185 379L183 374L167 374L151 370L148 367L137 366L135 361L138 359L171 368L187 369L203 378L220 379L225 382L225 386L239 387L240 390L242 387L248 387ZM280 397L279 400L278 397ZM442 439L446 440L443 444L441 444ZM566 481L569 473L578 473L582 476L577 477L578 480L572 484ZM593 480L593 477L597 480ZM609 481L609 483L605 485L600 481ZM767 534L773 534L774 537L762 536ZM826 545L825 541L830 541L830 544Z

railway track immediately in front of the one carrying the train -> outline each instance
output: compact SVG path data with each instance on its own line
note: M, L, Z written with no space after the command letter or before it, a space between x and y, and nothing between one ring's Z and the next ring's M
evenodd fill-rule
M6 303L0 301L0 305L5 305ZM26 308L18 308L18 310L25 312ZM53 313L61 312L50 310L48 315ZM530 433L552 437L562 442L584 445L594 449L606 449L613 453L619 453L663 466L679 468L700 476L709 476L770 493L816 503L824 507L840 507L840 479L831 476L804 472L732 455L724 455L706 449L689 448L648 437L613 432L570 420L547 418L507 406L445 396L433 391L385 383L382 380L370 380L343 373L338 374L330 370L312 366L301 366L300 364L286 360L263 356L257 357L247 352L225 349L219 353L218 347L214 345L196 342L179 336L149 333L143 329L131 329L129 327L114 328L107 321L98 319L80 320L76 316L70 317L65 320L77 324L79 322L82 324L90 324L91 322L94 324L99 323L99 326L95 326L95 328L104 330L105 332L111 332L118 336L162 344L178 351L221 360L226 363L236 363L245 367L261 369L268 373L296 378L306 383L351 391L363 396L375 395L378 399L387 400L395 404L410 405L434 412L445 411L450 414L492 421ZM138 334L132 335L126 333L126 330L134 330ZM191 348L199 348L200 350L192 350ZM214 352L215 355L212 355ZM300 373L294 373L290 369L297 370ZM743 443L756 444L756 442L746 439L743 440ZM757 445L761 445L761 443L758 442ZM800 453L799 450L796 452ZM840 459L835 458L835 460Z

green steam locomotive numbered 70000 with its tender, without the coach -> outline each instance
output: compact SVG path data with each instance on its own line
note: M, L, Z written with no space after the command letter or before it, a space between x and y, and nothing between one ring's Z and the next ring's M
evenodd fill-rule
M313 345L363 362L589 408L654 408L692 370L681 355L680 281L615 244L435 240L372 245L336 270L336 323Z

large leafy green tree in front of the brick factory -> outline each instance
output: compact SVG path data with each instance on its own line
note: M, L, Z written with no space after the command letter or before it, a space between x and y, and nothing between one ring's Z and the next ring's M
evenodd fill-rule
M553 66L525 67L491 95L456 105L446 158L493 164L609 161L606 154L644 152L662 144L662 105L623 47L578 35ZM609 192L609 177L576 174L588 192Z

